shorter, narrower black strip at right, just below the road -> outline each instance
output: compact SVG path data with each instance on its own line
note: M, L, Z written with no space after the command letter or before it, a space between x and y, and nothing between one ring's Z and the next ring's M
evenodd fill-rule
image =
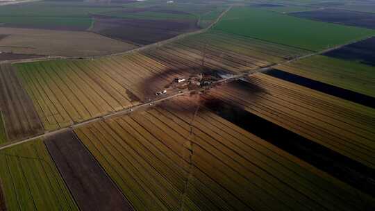
M304 87L308 87L312 90L317 90L319 92L323 92L332 96L337 96L341 99L346 99L354 103L359 103L361 105L375 108L375 98L372 96L367 96L365 94L360 94L358 92L346 90L341 87L336 87L333 85L329 85L327 83L315 81L313 79L305 78L303 76L290 74L286 71L282 71L278 69L270 69L266 71L265 74L269 76L273 76L275 78L283 79L284 81L289 81L289 82L292 82L292 83L295 83Z

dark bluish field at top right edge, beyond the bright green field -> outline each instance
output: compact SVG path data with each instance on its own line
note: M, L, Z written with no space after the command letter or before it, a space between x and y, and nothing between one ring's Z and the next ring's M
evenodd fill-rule
M312 19L319 22L342 24L347 26L358 26L364 28L375 28L375 13L353 12L347 10L313 10L306 12L292 12L288 15Z

